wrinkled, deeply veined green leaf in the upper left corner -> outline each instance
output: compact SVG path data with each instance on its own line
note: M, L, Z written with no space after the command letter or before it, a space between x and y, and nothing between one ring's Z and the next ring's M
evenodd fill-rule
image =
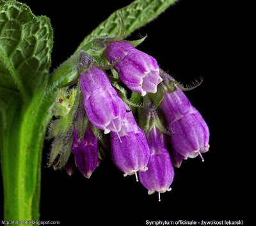
M35 17L17 1L0 1L0 89L15 89L29 100L47 79L51 49L47 17Z

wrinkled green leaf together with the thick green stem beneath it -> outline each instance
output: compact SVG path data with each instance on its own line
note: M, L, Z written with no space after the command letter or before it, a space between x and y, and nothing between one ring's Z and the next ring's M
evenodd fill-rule
M38 220L40 169L51 119L45 90L52 28L26 4L0 0L0 153L5 220Z

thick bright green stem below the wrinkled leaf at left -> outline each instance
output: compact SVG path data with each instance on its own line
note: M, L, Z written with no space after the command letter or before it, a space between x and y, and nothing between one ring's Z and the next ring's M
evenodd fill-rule
M1 134L6 221L39 219L42 148L51 119L43 96L41 91L29 104L13 103L12 121Z

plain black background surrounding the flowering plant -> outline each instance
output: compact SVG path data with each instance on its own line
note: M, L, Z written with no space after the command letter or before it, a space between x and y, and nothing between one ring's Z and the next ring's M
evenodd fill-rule
M21 1L46 15L54 29L51 71L113 11L131 1ZM40 220L60 225L145 225L150 221L243 220L252 209L252 112L255 86L250 69L255 29L246 1L180 0L156 20L135 31L148 38L138 49L154 56L183 84L204 79L186 93L210 129L211 145L200 158L175 169L172 192L147 195L134 176L123 177L104 159L90 179L76 170L48 169L45 141ZM255 148L255 147L254 147ZM1 197L2 198L2 197ZM2 205L1 205L2 206ZM0 209L3 213L3 209ZM0 213L1 215L1 213ZM253 216L252 216L253 217ZM24 219L26 220L26 219Z

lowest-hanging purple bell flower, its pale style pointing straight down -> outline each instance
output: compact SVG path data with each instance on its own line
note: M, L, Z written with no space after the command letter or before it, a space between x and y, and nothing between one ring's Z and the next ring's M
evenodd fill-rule
M148 195L154 192L164 193L170 191L174 178L173 165L170 154L167 150L166 134L157 130L154 125L147 135L147 142L150 149L148 170L139 172L140 181L148 190Z

